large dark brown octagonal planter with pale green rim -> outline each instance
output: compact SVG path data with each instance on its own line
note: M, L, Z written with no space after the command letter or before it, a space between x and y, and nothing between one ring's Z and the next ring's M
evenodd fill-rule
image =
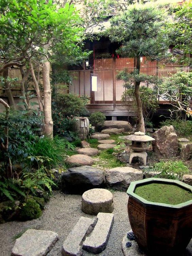
M149 178L131 182L127 190L128 215L135 239L148 255L182 256L192 238L192 200L169 205L149 202L134 193L137 186L154 182L192 192L192 186L177 180Z

